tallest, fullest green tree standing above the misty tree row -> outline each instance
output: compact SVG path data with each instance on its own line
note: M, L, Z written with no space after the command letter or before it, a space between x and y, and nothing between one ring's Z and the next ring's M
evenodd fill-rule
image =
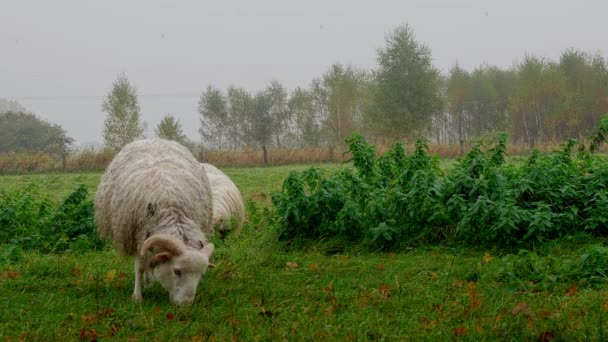
M431 50L416 41L410 26L400 26L378 51L379 68L367 122L377 134L412 138L422 134L442 109L439 72Z

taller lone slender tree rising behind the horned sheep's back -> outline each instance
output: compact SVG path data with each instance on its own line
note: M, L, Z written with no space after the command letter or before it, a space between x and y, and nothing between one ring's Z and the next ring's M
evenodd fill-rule
M144 136L145 124L140 119L137 90L124 74L114 81L102 109L108 113L103 127L106 148L118 151Z

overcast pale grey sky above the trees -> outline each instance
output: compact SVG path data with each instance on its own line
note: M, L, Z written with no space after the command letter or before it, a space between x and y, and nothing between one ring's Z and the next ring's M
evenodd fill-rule
M458 61L509 67L567 48L608 55L608 1L0 0L0 97L100 143L103 97L124 72L147 134L175 115L199 141L209 84L308 86L333 63L372 69L385 35L408 23L446 72Z

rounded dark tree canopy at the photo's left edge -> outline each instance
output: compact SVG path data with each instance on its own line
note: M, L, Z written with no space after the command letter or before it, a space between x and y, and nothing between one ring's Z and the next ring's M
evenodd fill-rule
M46 152L61 157L68 153L73 141L61 126L34 114L0 114L0 153Z

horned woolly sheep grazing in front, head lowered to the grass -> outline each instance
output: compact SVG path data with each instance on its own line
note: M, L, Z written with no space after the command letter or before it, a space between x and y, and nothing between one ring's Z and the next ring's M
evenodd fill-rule
M95 222L102 237L123 255L135 255L133 299L158 280L174 304L194 300L214 246L209 181L200 163L180 144L139 140L114 157L95 195Z

